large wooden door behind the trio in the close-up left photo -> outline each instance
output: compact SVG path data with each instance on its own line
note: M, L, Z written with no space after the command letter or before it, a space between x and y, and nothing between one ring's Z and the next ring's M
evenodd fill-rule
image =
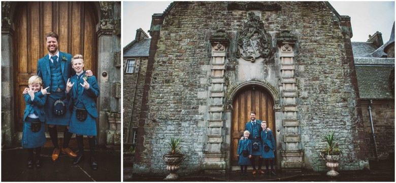
M94 6L84 2L18 2L15 8L14 96L15 126L23 128L25 102L22 92L31 76L37 75L37 61L48 54L45 34L59 35L59 51L84 56L84 69L97 68L97 35ZM58 131L60 131L58 129Z

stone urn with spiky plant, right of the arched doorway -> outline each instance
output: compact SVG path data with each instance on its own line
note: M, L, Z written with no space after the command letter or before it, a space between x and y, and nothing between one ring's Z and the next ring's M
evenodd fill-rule
M338 142L334 140L334 137L334 132L323 136L327 144L326 148L320 152L320 156L326 161L326 166L330 168L326 173L328 176L337 176L339 174L336 168L339 166L339 161L342 157L342 152L338 147Z

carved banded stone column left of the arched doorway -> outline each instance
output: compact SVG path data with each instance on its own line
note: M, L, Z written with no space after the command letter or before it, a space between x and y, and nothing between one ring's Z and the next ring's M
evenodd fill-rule
M209 86L209 102L207 121L207 149L204 152L204 169L225 171L225 152L222 144L224 140L225 114L225 66L228 47L228 36L224 31L217 31L211 35L212 48L211 70Z

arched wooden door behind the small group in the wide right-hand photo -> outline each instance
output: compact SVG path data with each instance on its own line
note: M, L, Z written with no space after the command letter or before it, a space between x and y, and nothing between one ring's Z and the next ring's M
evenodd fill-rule
M250 86L237 93L233 100L231 165L238 165L238 142L245 131L245 124L250 121L250 112L256 112L257 120L267 121L267 126L275 130L273 108L274 100L263 88Z

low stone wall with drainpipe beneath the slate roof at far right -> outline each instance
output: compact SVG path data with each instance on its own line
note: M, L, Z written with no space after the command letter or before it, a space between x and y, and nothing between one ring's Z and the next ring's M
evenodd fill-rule
M362 103L361 111L366 132L367 155L375 160L374 139L372 136L369 101ZM373 118L374 134L377 144L378 159L394 157L394 99L373 100L370 105Z

